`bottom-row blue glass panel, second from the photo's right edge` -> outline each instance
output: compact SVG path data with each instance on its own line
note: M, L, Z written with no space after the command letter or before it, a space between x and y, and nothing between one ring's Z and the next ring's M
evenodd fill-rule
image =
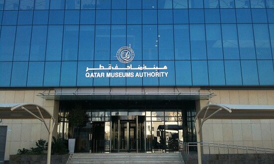
M256 60L241 61L244 85L258 85L258 70Z

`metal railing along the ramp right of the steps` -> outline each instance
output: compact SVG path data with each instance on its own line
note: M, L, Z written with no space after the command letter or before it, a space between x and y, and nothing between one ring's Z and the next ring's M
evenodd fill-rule
M249 152L252 153L274 153L273 148L262 148L254 146L243 146L243 145L232 145L232 144L218 144L218 143L208 143L201 142L202 148L208 148L208 154L220 154L221 150L226 150L226 154L239 154L239 151L242 151L246 154ZM179 152L184 154L189 154L190 148L197 148L197 142L182 142L179 141ZM214 149L214 153L210 151L210 148ZM217 149L218 153L215 153ZM234 153L236 151L236 153Z

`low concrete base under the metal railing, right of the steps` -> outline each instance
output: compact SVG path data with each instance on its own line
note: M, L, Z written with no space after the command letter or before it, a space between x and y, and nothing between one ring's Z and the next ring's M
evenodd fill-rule
M186 164L198 164L197 153L182 156ZM274 164L274 154L202 155L202 164Z

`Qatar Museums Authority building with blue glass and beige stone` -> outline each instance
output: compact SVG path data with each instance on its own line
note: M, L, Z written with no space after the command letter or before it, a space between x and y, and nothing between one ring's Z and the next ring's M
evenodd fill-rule
M33 102L76 151L174 152L209 101L274 105L274 0L0 0L0 103ZM47 139L5 120L4 159ZM208 120L202 141L274 147L273 120Z

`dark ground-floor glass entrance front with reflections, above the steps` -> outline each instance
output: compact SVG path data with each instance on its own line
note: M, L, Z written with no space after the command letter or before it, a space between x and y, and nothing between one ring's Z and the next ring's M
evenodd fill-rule
M72 134L75 104L88 119ZM178 140L196 141L195 115L195 101L61 101L57 132L79 152L177 152Z

